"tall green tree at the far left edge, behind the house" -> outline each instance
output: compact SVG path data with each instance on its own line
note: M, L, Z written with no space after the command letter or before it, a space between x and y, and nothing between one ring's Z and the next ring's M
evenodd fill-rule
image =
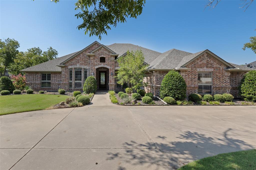
M0 39L0 76L4 76L8 67L14 63L16 55L19 53L18 48L18 41L10 38Z

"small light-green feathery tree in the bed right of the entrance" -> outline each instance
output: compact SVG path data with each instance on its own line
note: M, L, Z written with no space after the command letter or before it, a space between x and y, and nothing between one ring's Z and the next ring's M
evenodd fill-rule
M141 50L127 51L126 56L123 56L117 60L119 64L119 70L116 78L118 79L118 84L127 83L128 87L134 90L145 86L143 83L143 77L145 76L145 71L148 65L144 64L144 55Z

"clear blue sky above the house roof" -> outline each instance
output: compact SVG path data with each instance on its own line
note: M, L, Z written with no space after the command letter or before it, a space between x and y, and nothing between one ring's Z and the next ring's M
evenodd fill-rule
M19 51L49 46L59 57L79 51L98 37L84 35L76 27L82 22L74 15L76 1L0 1L1 39L13 38ZM203 1L146 1L137 19L129 18L103 35L101 44L132 43L158 52L172 48L195 53L209 49L224 60L244 64L256 60L243 44L255 36L256 2L244 12L241 1L221 1L214 9L204 9Z

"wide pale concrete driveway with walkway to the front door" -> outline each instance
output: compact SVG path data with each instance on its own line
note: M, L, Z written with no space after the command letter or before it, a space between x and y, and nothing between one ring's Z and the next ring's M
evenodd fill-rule
M256 106L118 106L1 116L0 169L177 169L256 148Z

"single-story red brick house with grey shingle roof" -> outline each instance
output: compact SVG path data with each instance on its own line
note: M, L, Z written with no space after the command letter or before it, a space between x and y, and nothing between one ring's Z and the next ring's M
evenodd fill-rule
M238 86L243 75L252 70L231 64L209 50L189 53L176 49L159 53L133 44L102 45L95 41L81 51L21 70L26 73L26 84L34 90L82 91L84 80L92 75L98 89L121 91L115 79L118 71L116 59L127 50L142 50L149 65L143 81L146 92L159 95L161 82L169 70L179 71L187 84L187 94L231 93L238 96Z

